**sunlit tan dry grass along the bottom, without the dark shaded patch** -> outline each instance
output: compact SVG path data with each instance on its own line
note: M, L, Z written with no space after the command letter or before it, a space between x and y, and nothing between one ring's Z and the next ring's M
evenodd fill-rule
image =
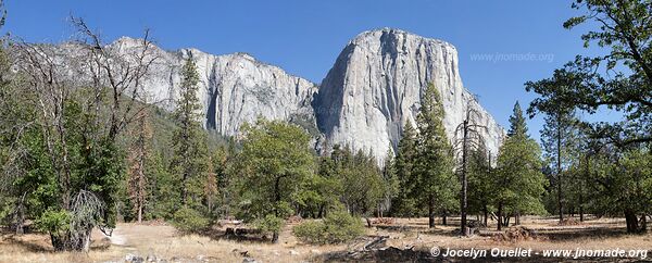
M439 223L439 222L437 222ZM546 249L649 249L652 248L652 234L626 235L620 218L591 218L579 225L559 226L555 218L525 217L523 225L543 238L504 242L492 239L490 235L460 238L455 233L456 218L450 218L449 226L438 225L427 228L427 218L396 218L391 226L368 228L369 236L388 236L387 245L415 251L428 251L440 248L531 248ZM4 234L0 239L0 262L105 262L123 261L126 254L146 259L180 262L241 262L246 256L262 262L300 261L340 261L351 245L311 246L298 241L286 226L279 243L269 243L260 239L224 239L223 228L215 228L205 235L183 236L165 224L137 225L120 224L112 240L102 234L93 233L91 251L87 253L55 253L46 235L29 234L21 237ZM487 233L496 228L490 224ZM113 241L113 245L111 242ZM122 245L116 245L122 243ZM333 255L333 256L329 256Z

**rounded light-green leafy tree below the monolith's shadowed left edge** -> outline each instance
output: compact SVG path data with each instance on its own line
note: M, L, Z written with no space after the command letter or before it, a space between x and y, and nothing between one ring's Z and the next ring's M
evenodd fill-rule
M250 222L289 216L293 212L289 203L302 190L297 183L314 174L309 135L298 126L263 120L242 130L242 151L237 156L241 176L234 178L238 215Z

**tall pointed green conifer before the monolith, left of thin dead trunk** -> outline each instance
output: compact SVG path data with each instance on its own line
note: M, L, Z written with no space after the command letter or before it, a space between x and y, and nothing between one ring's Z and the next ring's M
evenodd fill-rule
M428 84L416 118L418 133L405 123L393 164L399 192L392 200L392 214L416 216L427 210L430 226L435 213L454 211L459 204L460 183L453 173L453 150L443 115L439 92Z

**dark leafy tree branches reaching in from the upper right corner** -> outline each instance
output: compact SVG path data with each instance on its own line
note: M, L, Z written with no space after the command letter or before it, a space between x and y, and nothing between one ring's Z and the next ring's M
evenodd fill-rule
M564 27L595 23L581 36L585 47L594 42L609 53L577 55L550 78L526 83L526 90L540 96L528 112L542 109L576 109L595 113L610 109L625 116L617 123L586 123L594 138L626 146L652 141L652 26L647 0L576 0L573 8L584 14L570 17ZM600 52L604 53L604 52Z

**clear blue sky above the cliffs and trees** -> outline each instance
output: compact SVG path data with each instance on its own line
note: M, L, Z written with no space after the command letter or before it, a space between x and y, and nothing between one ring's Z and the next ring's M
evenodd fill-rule
M435 0L4 0L2 30L37 42L70 38L70 15L112 41L150 28L164 49L214 54L248 52L321 83L344 45L363 30L394 27L453 43L466 88L503 126L516 100L534 95L523 84L548 77L576 54L590 52L562 23L577 15L570 1ZM498 57L497 57L498 55ZM491 58L493 57L493 58ZM542 118L528 122L539 138Z

